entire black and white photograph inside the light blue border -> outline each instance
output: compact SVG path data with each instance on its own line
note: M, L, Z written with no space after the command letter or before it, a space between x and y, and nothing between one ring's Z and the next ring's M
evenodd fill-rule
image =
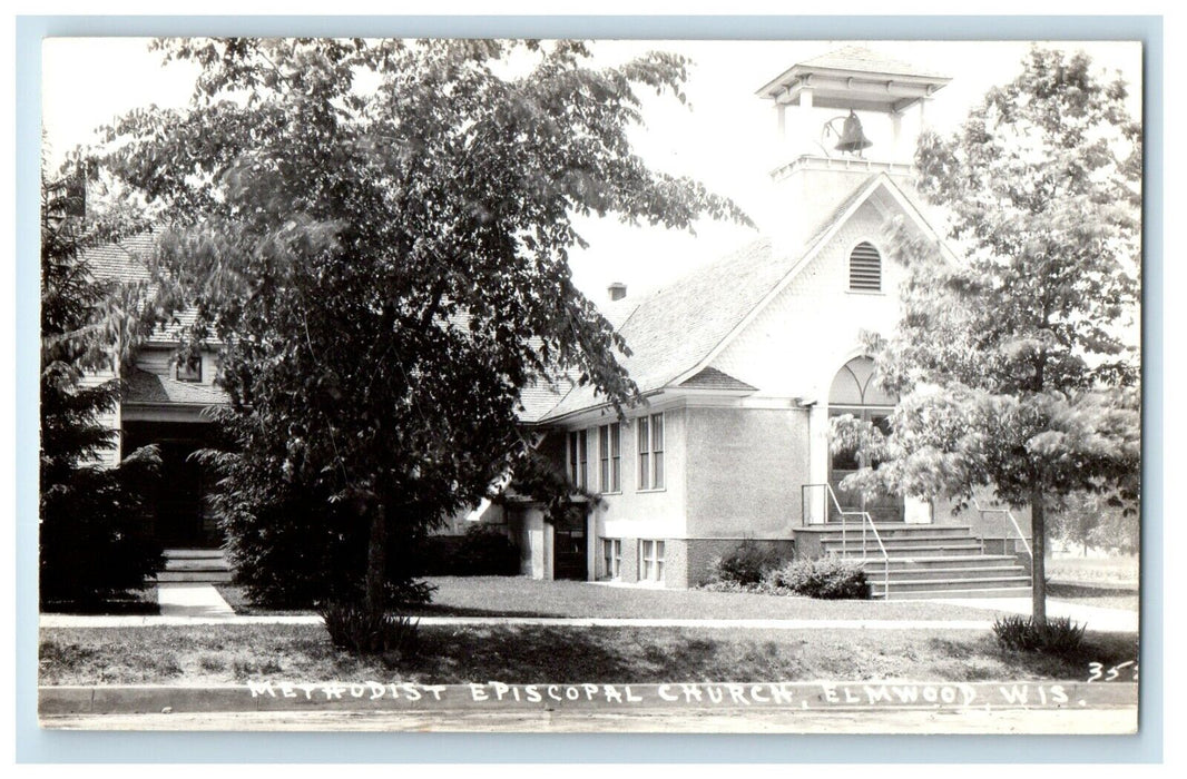
M42 728L1138 732L1142 41L40 66Z

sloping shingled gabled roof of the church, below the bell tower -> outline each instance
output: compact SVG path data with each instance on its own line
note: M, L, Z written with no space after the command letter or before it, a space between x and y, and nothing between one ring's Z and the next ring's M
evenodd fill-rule
M932 231L922 215L899 186L884 173L864 179L812 231L799 250L776 253L767 238L699 268L673 285L659 289L639 302L620 330L631 350L622 359L630 378L642 394L703 376L705 387L718 382L736 382L729 389L755 388L721 373L705 373L709 363L768 305L780 290L808 264L836 231L875 192L886 187L889 196L925 229ZM934 234L934 231L932 231ZM719 372L719 371L718 371ZM729 381L726 381L729 379ZM738 387L741 385L741 387ZM570 391L541 421L597 408L604 398L591 387Z

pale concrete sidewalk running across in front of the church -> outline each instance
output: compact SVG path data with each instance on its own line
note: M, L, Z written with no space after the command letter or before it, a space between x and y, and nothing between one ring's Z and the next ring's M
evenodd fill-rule
M210 585L165 585L158 588L159 615L43 614L42 627L150 627L159 625L320 625L317 614L235 614ZM1030 613L1027 598L950 599L956 604L988 611ZM1092 631L1132 633L1137 613L1118 608L1080 606L1047 601L1049 617L1069 617L1087 622ZM420 617L421 625L529 625L537 627L699 627L710 630L953 630L986 631L994 620L891 620L891 619L637 619L637 618L554 618L554 617Z

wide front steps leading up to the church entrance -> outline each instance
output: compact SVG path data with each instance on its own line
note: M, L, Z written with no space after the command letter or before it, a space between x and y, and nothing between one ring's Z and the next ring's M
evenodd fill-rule
M967 526L817 525L806 531L825 555L863 560L872 598L1017 598L1030 592L1028 570L1013 555L986 555ZM882 556L886 549L887 557ZM889 589L889 592L888 592Z

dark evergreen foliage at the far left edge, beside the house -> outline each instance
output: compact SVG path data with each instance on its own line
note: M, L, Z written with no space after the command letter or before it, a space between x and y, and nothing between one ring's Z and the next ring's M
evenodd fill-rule
M164 567L145 515L144 496L157 473L154 447L131 453L119 467L100 458L115 446L103 423L119 400L116 336L128 314L113 285L96 282L83 251L118 235L116 222L70 216L83 190L43 177L40 363L40 604L83 606L142 589ZM77 205L77 204L72 204ZM101 371L113 377L100 381Z

